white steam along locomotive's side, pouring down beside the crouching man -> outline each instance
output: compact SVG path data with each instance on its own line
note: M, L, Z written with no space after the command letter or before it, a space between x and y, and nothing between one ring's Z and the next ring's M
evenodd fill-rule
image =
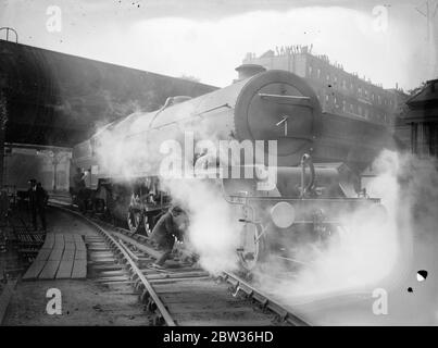
M176 164L180 165L180 174L186 175L184 169L192 163L185 163L184 154L190 149L180 149L185 139L180 139L178 129L171 129L165 134L168 142L162 138L157 141L146 138L142 130L148 129L151 117L153 114L134 113L113 129L101 129L96 147L99 165L102 171L111 173L112 177L126 184L141 173L158 175L161 189L172 197L173 203L179 204L188 212L189 226L186 231L185 247L199 256L200 265L212 274L236 270L236 249L239 246L241 227L236 212L225 201L221 187L215 186L213 179L175 178L168 173L175 171ZM129 128L126 128L124 123ZM130 136L126 137L126 134ZM196 152L201 152L209 145L216 146L218 135L212 129L199 125L196 127L196 134L197 138L209 139L192 144L192 150ZM163 148L170 151L163 153ZM171 161L173 165L166 167L163 164L165 158L175 160Z

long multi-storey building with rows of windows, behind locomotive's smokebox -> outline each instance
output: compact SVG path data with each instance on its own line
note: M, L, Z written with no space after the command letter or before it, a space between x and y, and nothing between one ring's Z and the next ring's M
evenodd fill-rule
M384 89L311 51L308 46L293 46L268 50L260 57L247 53L243 64L286 70L303 77L315 90L324 112L392 125L404 95L400 89Z

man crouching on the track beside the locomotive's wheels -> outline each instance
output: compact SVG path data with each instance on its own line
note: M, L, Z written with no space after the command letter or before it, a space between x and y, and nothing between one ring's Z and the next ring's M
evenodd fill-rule
M187 227L187 215L179 207L172 207L160 217L152 229L152 240L162 250L162 256L152 263L152 268L163 270L164 262L168 259L175 245L175 239L183 241Z

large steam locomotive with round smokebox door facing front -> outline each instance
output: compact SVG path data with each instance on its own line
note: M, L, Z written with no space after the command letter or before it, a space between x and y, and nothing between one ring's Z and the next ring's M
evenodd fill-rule
M246 269L281 252L278 236L324 239L337 231L341 214L359 208L381 210L379 199L361 188L360 173L386 146L386 127L323 113L313 89L286 71L258 72L193 99L168 98L160 110L133 113L78 144L72 165L88 170L85 209L126 221L133 233L150 234L173 199L162 185L161 146L185 144L188 132L198 144L215 139L253 146L249 163L243 147L237 161L228 158L241 172L250 166L252 177L215 181L237 212L241 245L236 252ZM275 151L267 146L273 140ZM210 156L205 162L205 148L192 150L193 166L223 160ZM273 166L275 185L261 190Z

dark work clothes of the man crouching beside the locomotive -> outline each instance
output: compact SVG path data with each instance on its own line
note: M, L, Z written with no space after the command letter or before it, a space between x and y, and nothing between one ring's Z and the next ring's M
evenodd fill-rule
M151 236L152 240L154 240L163 251L163 254L155 262L158 265L163 265L171 256L175 245L175 237L178 240L183 240L183 232L176 226L171 212L166 212L157 222Z

